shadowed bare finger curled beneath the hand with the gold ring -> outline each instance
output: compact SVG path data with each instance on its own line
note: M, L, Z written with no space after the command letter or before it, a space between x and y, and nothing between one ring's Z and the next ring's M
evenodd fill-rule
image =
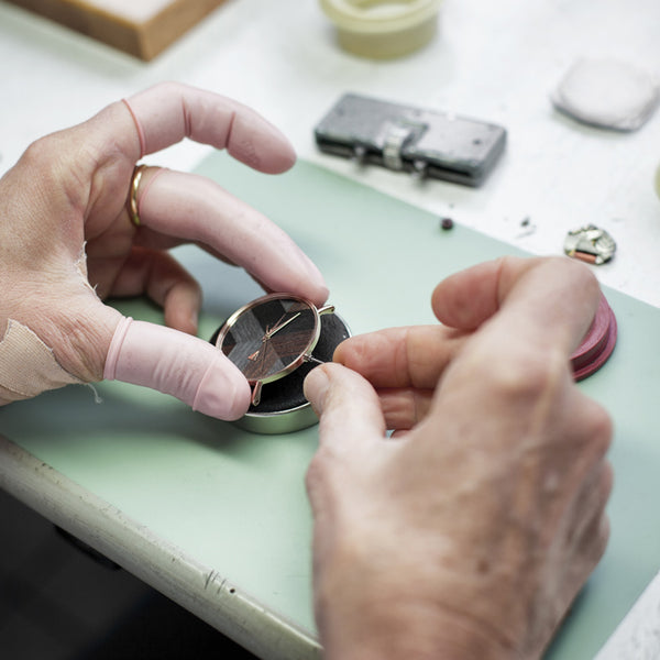
M169 328L197 333L201 288L197 280L168 253L133 248L119 276L106 295L127 297L146 294L165 312Z

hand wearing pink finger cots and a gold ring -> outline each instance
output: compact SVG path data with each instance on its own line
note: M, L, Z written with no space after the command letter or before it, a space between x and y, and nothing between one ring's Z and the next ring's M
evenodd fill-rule
M266 174L295 162L287 140L256 112L176 82L37 140L0 179L0 327L15 319L52 349L66 372L96 382L125 322L102 299L146 294L163 306L169 328L140 323L132 346L119 342L113 353L119 375L107 377L130 377L196 402L202 413L234 419L248 409L249 384L220 351L193 337L200 287L167 250L197 243L245 268L266 290L317 304L328 289L282 230L204 177L143 170L141 224L131 222L128 196L136 162L184 138L226 148Z

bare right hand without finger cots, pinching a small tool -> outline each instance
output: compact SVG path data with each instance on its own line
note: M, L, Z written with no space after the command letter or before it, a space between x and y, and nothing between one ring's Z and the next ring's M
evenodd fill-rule
M310 372L326 658L541 656L608 538L612 424L569 360L598 298L568 257L488 262L437 287L441 326Z

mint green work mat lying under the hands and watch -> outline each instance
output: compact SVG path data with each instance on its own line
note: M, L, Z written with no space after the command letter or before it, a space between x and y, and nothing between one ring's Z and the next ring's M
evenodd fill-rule
M432 322L429 297L437 282L516 253L460 226L442 231L433 215L310 164L268 177L213 154L198 172L297 241L324 273L330 301L353 333ZM205 338L262 293L242 271L201 250L187 246L178 254L205 289ZM581 387L615 420L613 531L604 560L548 653L558 659L592 658L660 566L660 311L615 292L607 297L619 323L618 344L607 365ZM161 321L143 301L118 307ZM0 431L213 568L275 616L314 634L304 475L317 427L255 436L143 388L103 383L98 393L102 404L86 387L13 404L0 415Z

